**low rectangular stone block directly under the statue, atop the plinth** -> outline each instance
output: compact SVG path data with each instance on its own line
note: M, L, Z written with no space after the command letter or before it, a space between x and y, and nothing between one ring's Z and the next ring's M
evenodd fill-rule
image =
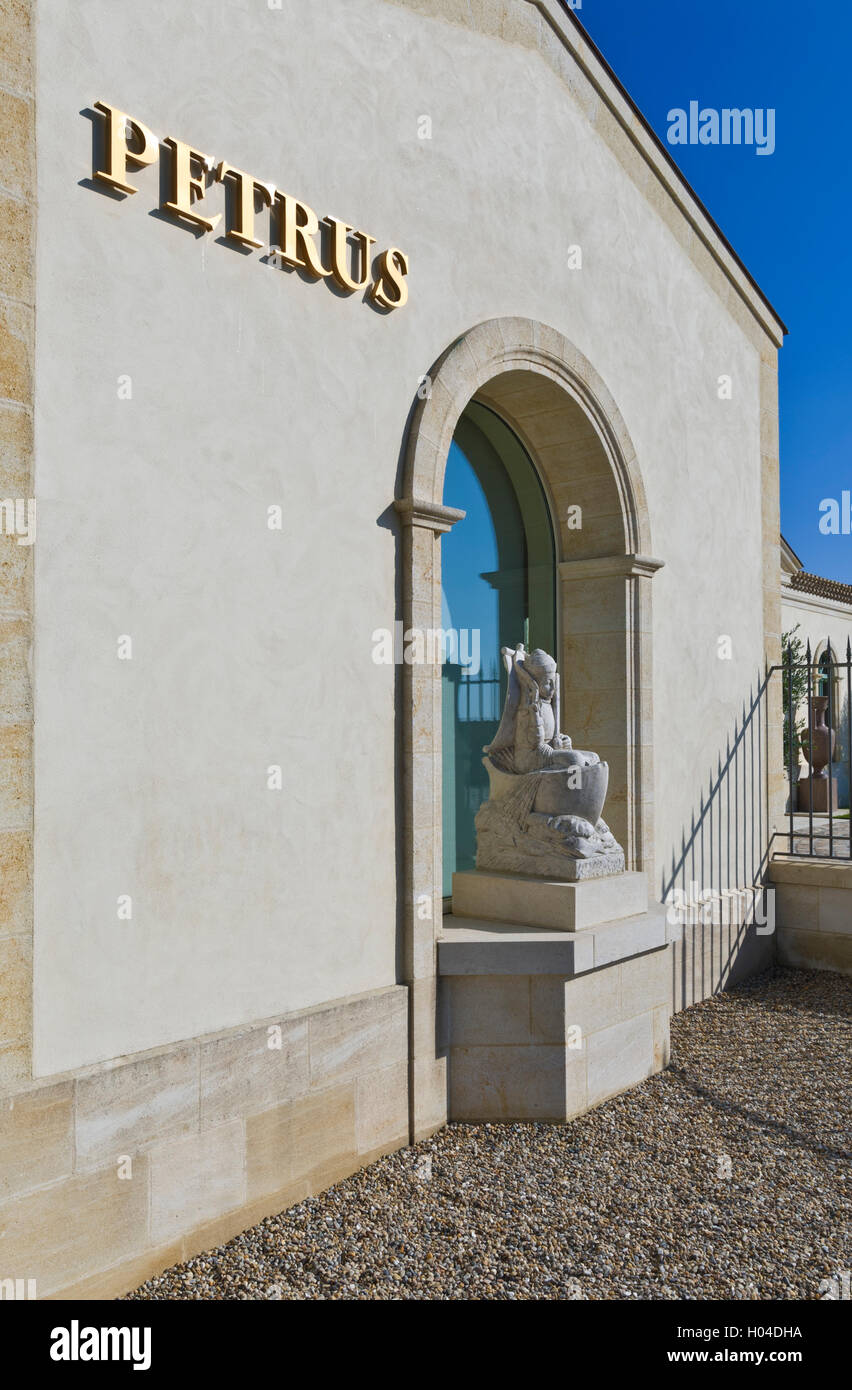
M577 863L591 860L577 860ZM453 917L513 922L548 931L584 931L632 917L648 908L644 873L617 873L577 883L473 869L453 874Z

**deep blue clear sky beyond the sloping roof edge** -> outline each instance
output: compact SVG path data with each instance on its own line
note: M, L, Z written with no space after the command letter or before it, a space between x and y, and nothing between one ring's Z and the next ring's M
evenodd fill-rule
M781 530L806 570L852 584L852 3L582 0L577 18L666 142L674 107L774 108L776 150L669 146L789 329L780 353Z

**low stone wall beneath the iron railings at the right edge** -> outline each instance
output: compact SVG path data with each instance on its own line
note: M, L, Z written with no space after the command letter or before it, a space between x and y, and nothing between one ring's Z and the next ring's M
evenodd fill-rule
M781 965L852 974L852 863L773 859Z

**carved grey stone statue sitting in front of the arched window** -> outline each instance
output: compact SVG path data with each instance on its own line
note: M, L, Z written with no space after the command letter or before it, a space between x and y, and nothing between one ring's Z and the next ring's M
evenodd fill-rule
M559 728L559 678L546 652L503 648L500 727L482 759L491 796L477 812L477 869L577 880L620 873L624 851L600 819L609 766Z

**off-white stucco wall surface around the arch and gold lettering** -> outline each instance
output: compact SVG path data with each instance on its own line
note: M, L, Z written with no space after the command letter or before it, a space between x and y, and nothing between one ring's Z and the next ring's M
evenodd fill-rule
M418 379L466 329L507 314L560 329L637 448L666 562L662 859L760 664L762 545L757 353L535 53L384 0L51 0L38 15L47 1073L395 979L379 517ZM156 168L135 197L95 192L79 113L96 99L403 247L409 306L381 317L225 247L221 227L196 239L151 217ZM221 190L208 202L220 211Z

